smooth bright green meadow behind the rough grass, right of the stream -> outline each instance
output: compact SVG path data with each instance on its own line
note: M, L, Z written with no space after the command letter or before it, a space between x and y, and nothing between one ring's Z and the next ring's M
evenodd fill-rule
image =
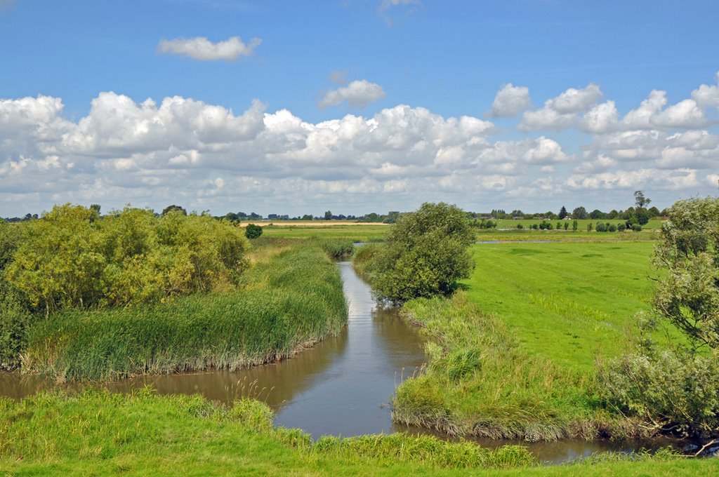
M597 234L610 235L610 234ZM464 283L521 348L581 371L615 356L631 318L649 308L651 243L477 244Z

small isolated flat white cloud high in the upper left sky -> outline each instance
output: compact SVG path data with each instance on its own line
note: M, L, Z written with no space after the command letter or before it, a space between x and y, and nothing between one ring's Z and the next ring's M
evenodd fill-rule
M244 43L240 37L230 37L227 40L213 43L206 37L178 38L175 40L160 40L157 51L170 55L185 55L193 60L234 61L241 56L250 56L255 48L262 43L259 38L252 38Z

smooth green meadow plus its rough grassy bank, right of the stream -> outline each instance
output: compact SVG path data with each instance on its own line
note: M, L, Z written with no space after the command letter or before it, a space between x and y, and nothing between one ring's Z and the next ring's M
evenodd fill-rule
M633 315L649 308L651 249L475 245L464 290L403 307L431 338L430 366L398 388L395 420L492 438L646 437L603 407L595 376L597 358L618 356Z

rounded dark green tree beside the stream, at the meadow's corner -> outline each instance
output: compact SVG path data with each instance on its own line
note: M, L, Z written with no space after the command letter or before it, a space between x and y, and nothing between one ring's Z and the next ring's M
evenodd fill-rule
M380 299L405 302L449 295L474 264L467 214L456 205L424 203L391 226L376 255L372 286Z

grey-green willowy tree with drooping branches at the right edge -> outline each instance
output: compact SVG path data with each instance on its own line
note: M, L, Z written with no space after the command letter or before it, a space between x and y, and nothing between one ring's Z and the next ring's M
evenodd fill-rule
M623 413L645 420L647 428L715 435L719 431L719 198L680 200L668 216L654 249L658 272L654 314L638 316L638 335L632 337L630 351L600 371L603 394ZM661 321L678 328L686 339L657 346L652 335Z

